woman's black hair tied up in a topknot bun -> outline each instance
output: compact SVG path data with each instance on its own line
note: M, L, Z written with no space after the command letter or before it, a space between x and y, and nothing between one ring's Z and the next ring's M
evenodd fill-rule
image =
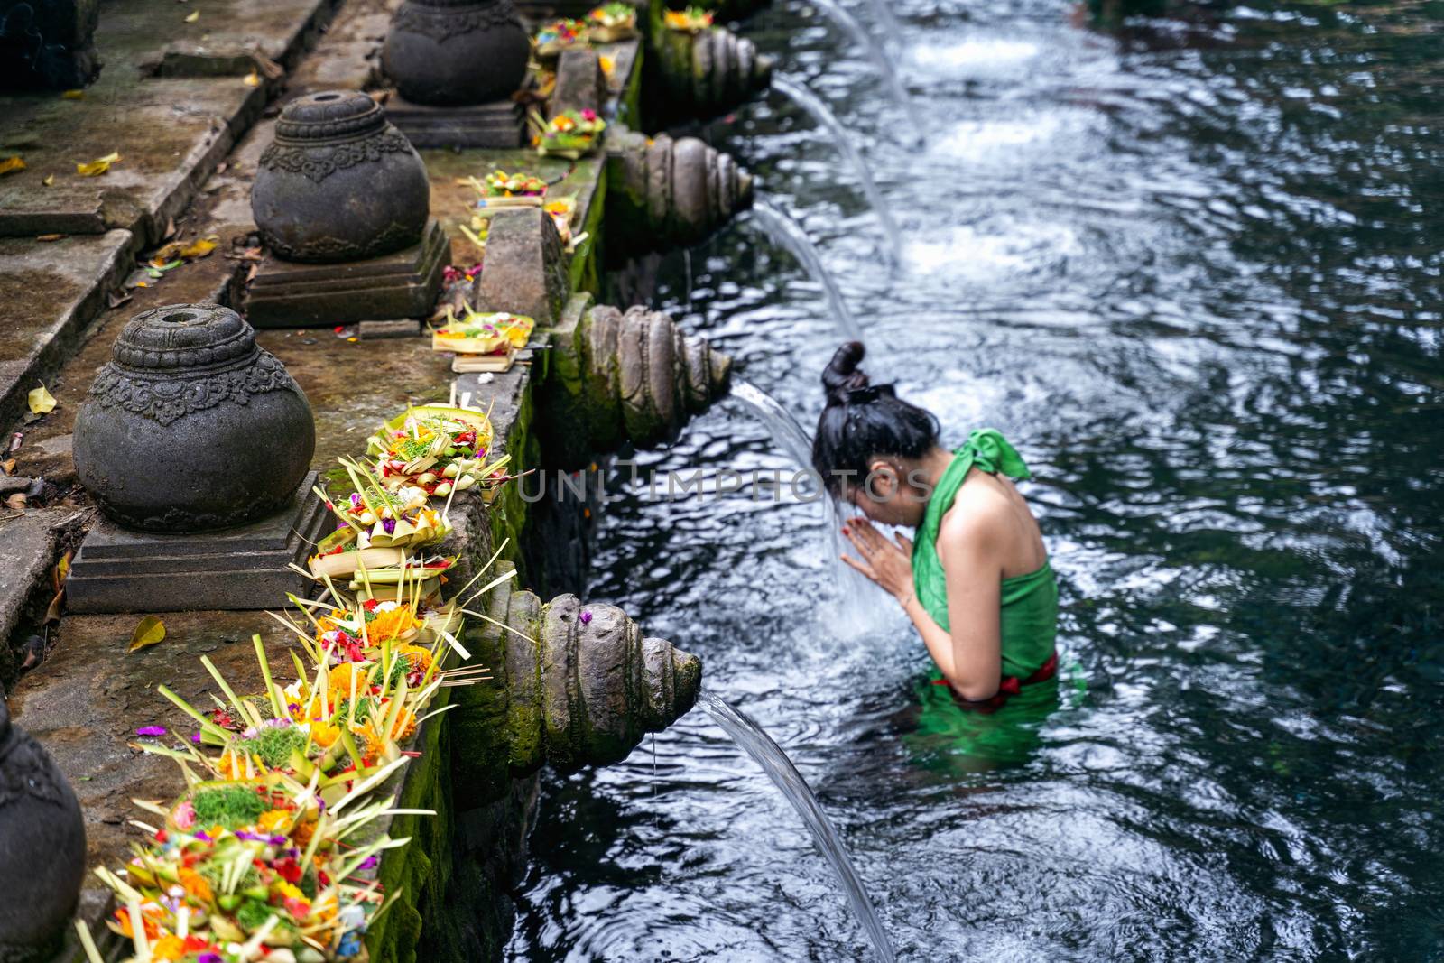
M937 445L937 419L891 384L871 384L858 368L864 354L861 341L849 341L822 372L827 407L817 419L813 468L835 495L845 484L862 485L875 458L923 458Z

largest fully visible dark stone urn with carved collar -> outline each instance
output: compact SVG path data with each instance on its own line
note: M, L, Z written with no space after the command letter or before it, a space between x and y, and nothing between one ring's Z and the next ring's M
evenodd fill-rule
M170 305L130 319L75 417L75 472L146 531L269 515L310 468L316 430L290 374L240 315Z

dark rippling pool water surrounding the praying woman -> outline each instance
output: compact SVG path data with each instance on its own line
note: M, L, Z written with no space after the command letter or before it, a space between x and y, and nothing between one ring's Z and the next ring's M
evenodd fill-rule
M920 149L835 26L783 3L745 32L856 130L898 271L800 110L709 136L817 241L874 375L1034 466L1058 707L979 732L930 702L892 603L838 591L816 504L618 478L592 598L791 754L900 959L1444 959L1444 7L1121 38L1054 0L892 9ZM812 423L838 341L817 286L741 224L690 261L661 306ZM736 403L643 462L788 465ZM549 777L531 852L514 960L865 959L796 814L700 712Z

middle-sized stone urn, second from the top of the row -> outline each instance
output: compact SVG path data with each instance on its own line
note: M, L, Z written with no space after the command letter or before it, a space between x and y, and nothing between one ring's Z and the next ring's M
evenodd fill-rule
M261 153L251 214L287 261L360 261L412 247L430 212L426 165L360 91L299 97Z

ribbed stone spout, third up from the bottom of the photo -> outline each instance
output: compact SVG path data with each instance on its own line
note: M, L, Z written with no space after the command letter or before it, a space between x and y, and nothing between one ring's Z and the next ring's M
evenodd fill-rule
M752 206L752 178L731 154L696 137L647 139L617 128L606 141L611 167L608 231L630 253L696 244Z

